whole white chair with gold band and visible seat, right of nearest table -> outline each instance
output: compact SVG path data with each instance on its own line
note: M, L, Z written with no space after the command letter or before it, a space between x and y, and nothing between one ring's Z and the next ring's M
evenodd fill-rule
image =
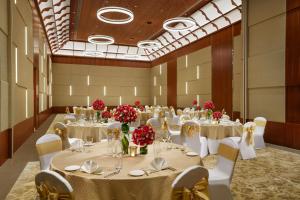
M238 145L232 139L224 138L219 145L217 165L208 170L210 185L229 187L238 155Z

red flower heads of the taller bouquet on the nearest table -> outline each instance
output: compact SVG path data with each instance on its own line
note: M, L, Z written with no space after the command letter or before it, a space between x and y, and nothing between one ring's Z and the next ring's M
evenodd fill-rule
M117 107L114 117L116 121L127 124L135 122L137 113L130 105L121 105Z

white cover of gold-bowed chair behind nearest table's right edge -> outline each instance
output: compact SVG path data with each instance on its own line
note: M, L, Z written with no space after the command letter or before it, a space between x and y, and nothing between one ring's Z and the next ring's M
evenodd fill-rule
M184 133L181 133L183 137L183 144L189 147L191 150L196 152L201 158L207 156L208 149L207 149L207 139L206 137L202 137L200 134L200 125L195 121L187 121L185 122L182 127L184 126L194 126L197 127L196 131L192 135L188 136Z

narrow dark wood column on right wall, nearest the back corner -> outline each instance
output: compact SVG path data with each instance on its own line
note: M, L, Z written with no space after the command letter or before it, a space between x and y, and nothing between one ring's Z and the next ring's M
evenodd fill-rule
M167 63L167 105L177 108L177 59Z

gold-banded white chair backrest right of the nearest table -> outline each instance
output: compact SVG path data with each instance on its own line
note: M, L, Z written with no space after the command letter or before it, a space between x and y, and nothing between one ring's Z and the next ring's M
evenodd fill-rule
M230 138L224 138L219 145L216 168L227 174L230 177L230 181L238 155L238 144Z

